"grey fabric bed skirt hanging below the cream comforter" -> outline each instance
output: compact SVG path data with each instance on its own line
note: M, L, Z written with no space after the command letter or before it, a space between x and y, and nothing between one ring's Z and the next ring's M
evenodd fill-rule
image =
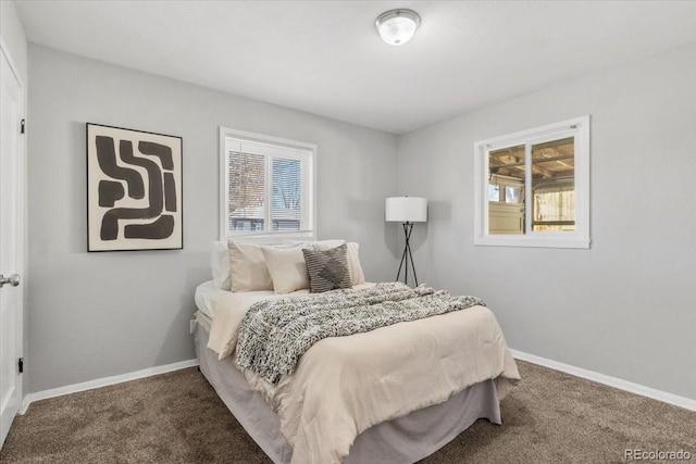
M276 464L288 464L293 448L281 434L278 416L251 390L229 360L217 360L207 348L208 336L208 330L196 324L194 341L201 373L263 452ZM447 444L478 418L501 424L493 379L475 384L444 403L369 428L356 438L345 463L414 463Z

